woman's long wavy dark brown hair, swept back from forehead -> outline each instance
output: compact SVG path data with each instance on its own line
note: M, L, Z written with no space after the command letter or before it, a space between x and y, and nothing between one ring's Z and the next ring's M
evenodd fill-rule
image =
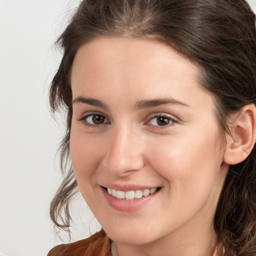
M215 98L217 119L256 103L255 15L245 0L83 0L57 43L63 57L52 80L52 111L66 109L66 134L60 145L64 175L50 205L54 224L68 230L68 204L77 192L69 161L72 117L70 73L77 49L100 36L164 42L199 67L200 84ZM215 230L225 255L256 254L256 148L231 165L215 214Z

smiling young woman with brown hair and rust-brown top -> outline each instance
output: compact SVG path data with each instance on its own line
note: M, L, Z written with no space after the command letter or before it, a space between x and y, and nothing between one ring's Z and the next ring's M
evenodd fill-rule
M256 255L248 4L83 0L58 42L65 178L50 214L68 230L78 186L102 230L48 255Z

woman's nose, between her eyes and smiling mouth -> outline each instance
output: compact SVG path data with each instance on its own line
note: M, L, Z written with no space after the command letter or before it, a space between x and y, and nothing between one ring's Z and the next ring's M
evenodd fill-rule
M125 176L144 166L142 139L127 127L112 130L104 158L106 169L113 175Z

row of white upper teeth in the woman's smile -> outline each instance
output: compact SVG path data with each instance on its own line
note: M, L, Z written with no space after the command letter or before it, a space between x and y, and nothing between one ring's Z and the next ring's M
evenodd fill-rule
M107 187L108 194L111 194L112 196L118 198L118 199L127 199L127 200L133 200L137 198L141 198L142 196L147 196L149 194L154 193L157 190L157 188L146 188L146 189L137 189L137 190L130 190L130 191L121 191L121 190L115 190Z

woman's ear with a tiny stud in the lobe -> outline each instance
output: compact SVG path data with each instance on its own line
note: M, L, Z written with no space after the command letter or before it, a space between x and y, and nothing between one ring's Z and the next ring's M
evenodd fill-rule
M256 141L256 108L254 104L242 107L230 116L228 125L231 135L226 133L226 149L223 162L237 164L251 152Z

